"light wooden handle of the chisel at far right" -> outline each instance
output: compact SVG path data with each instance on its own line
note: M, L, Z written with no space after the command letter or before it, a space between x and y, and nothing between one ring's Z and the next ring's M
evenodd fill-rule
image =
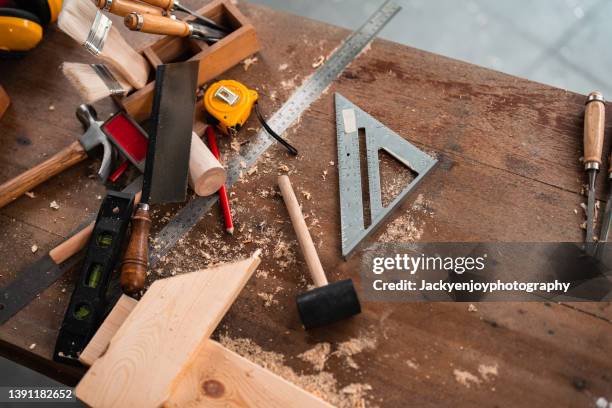
M601 166L605 117L606 107L602 94L591 92L584 109L584 164L587 170Z

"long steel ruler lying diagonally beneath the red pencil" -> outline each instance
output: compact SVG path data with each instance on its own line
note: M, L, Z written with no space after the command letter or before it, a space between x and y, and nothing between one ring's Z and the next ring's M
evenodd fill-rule
M291 95L289 100L268 121L270 127L279 134L289 129L400 9L401 7L393 1L386 1ZM244 165L246 164L246 168L253 166L272 143L274 140L262 129L254 140L245 146L245 152L241 151L241 154L229 164L227 185L231 186L238 181L245 169ZM149 266L154 267L161 258L166 256L217 200L217 195L214 195L197 197L187 203L157 235L156 248L152 248L149 255Z

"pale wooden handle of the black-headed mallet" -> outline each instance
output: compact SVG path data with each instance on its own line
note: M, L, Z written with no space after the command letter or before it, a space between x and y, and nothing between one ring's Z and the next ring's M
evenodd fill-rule
M310 270L312 280L317 287L326 286L327 277L323 271L323 265L321 265L321 261L317 255L317 250L312 242L310 233L308 232L306 221L304 221L300 204L298 203L295 193L293 192L289 177L284 175L279 176L278 186L280 187L281 194L283 195L283 200L285 200L285 205L287 206L287 211L289 212L289 217L291 218L291 223L293 224L293 229L295 230L298 242L300 243L300 248L302 249L304 259L306 260L306 265L308 265L308 269Z

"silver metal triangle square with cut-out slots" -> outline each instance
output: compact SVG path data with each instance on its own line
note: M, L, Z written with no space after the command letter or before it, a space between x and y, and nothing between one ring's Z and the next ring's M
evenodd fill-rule
M335 94L342 255L347 258L397 208L438 161L361 110ZM365 147L372 223L365 228L361 191L359 129L365 129ZM417 175L386 207L382 204L379 150L385 150Z

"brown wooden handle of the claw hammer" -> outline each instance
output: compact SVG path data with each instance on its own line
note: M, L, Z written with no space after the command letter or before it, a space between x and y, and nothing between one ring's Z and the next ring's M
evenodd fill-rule
M0 185L0 208L85 158L87 152L77 141L38 166Z

